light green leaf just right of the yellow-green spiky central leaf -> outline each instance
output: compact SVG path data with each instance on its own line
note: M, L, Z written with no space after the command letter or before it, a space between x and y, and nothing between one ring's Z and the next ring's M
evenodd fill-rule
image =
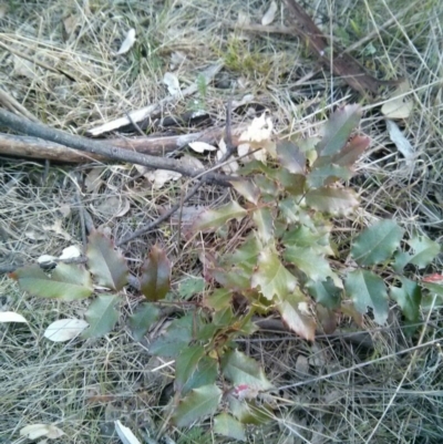
M309 247L287 247L284 254L285 260L295 265L309 279L323 280L327 277L337 279L328 260Z

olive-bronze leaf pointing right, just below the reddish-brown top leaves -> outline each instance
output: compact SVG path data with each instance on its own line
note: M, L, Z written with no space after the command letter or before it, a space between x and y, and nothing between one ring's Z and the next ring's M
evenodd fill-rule
M359 205L359 199L353 189L321 187L306 194L306 204L318 211L346 216Z

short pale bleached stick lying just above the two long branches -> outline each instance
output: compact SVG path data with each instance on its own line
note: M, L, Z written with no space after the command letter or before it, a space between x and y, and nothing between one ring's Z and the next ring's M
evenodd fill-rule
M214 79L214 76L219 73L223 69L223 63L217 63L213 66L209 66L206 71L202 73L202 76L204 79L205 84L209 84L210 81ZM186 97L188 95L192 95L198 91L199 87L199 82L193 83L190 86L186 87L185 90L178 92L177 94L168 95L167 97L161 100L157 103L154 103L153 105L148 105L145 107L142 107L141 110L133 111L128 113L128 118L127 116L116 118L115 121L107 122L103 125L96 126L95 128L89 130L87 134L91 136L99 136L103 133L109 133L110 131L115 131L121 128L122 126L131 125L131 121L138 123L142 122L148 117L151 117L153 114L157 114L162 111L164 105L171 102L175 102L176 100Z

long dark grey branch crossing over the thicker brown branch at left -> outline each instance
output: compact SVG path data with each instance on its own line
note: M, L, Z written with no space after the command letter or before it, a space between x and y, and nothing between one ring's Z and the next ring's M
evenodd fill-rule
M0 110L0 124L28 136L40 137L70 148L101 155L115 161L128 162L131 164L143 165L156 169L168 169L188 177L199 176L206 173L204 169L183 166L179 161L174 158L155 157L147 154L136 153L130 149L112 146L105 141L91 141L60 130L50 128L40 123L30 122L27 118L19 117L6 110ZM224 174L209 173L206 174L205 177L209 183L230 186L229 179L231 179L231 177Z

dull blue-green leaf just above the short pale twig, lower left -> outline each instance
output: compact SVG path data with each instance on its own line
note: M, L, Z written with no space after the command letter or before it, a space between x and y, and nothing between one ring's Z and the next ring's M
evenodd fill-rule
M193 340L193 314L174 319L169 327L150 347L150 353L163 358L176 358Z

